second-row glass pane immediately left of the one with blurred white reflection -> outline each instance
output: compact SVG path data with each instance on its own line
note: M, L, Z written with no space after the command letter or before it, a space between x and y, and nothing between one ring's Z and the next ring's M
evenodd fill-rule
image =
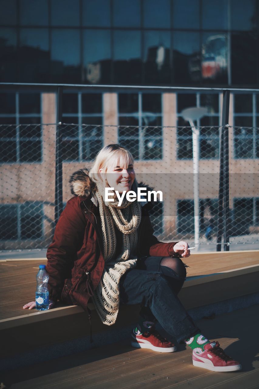
M114 82L141 82L140 31L114 31Z

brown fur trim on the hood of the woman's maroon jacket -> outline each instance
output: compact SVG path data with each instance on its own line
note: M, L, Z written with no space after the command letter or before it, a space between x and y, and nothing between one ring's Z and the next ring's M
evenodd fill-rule
M89 170L83 168L74 172L69 180L71 194L79 197L89 197L96 191L96 184L89 177ZM144 182L138 182L139 187L145 187L148 191L154 190L154 188L145 184ZM144 205L144 204L143 204Z

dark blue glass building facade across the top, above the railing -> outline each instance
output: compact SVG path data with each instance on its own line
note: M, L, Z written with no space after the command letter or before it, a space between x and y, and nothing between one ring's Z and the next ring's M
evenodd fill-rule
M1 82L259 84L257 0L1 0Z

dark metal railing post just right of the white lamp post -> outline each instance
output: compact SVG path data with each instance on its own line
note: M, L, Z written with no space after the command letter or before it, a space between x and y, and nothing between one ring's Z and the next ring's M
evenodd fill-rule
M222 234L224 251L229 251L229 90L223 93L222 123L220 131L219 212L217 228L217 251L221 251Z

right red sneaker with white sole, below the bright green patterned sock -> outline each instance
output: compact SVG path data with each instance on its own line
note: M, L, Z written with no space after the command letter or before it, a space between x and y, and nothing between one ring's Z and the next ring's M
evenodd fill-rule
M194 366L213 371L234 371L242 369L239 362L234 361L219 347L219 342L211 342L204 346L199 354L193 351Z

